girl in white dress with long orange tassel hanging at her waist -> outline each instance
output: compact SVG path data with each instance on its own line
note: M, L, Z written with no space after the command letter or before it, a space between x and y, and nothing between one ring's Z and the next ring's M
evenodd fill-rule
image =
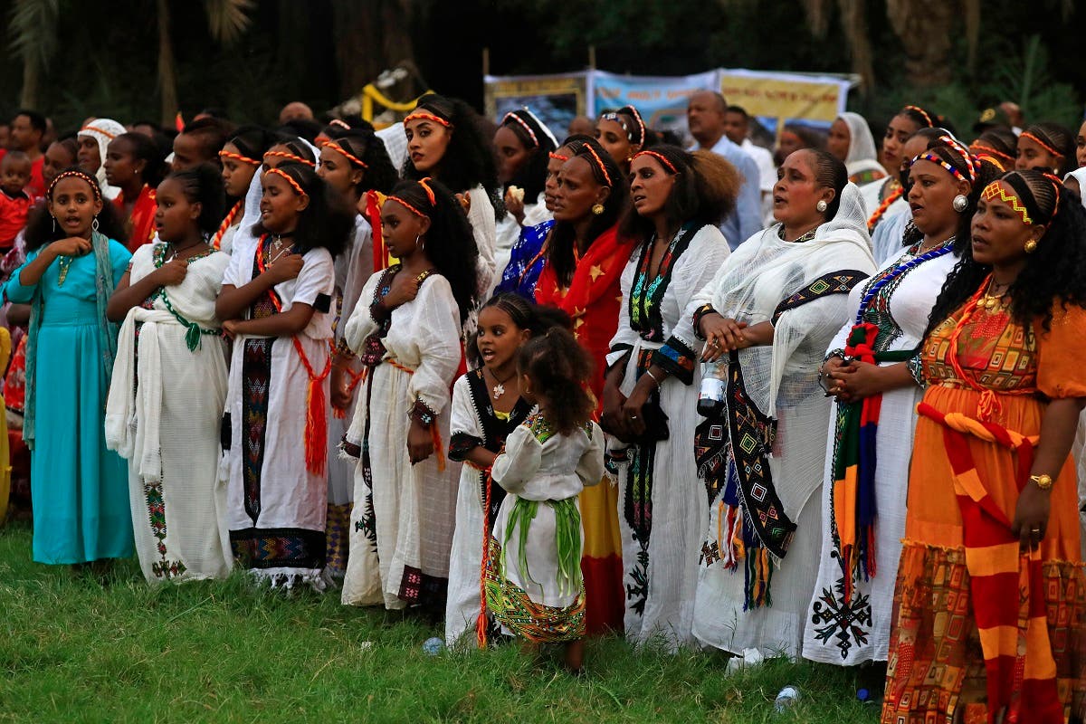
M224 431L233 557L273 586L320 587L332 257L350 216L308 166L262 177L255 244L235 247L215 312L235 339Z

